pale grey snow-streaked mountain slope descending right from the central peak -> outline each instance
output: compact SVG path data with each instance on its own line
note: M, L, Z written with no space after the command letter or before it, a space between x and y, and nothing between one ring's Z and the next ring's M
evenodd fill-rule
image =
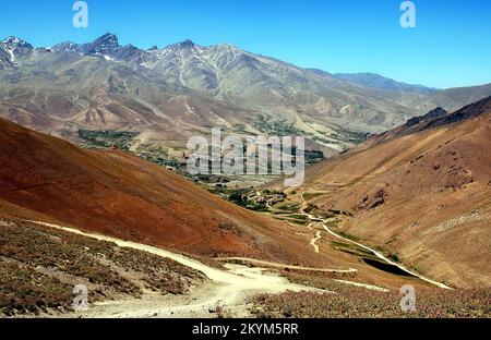
M143 65L167 81L280 117L319 136L325 133L316 124L380 131L410 116L398 94L355 86L231 45L187 40L151 51Z

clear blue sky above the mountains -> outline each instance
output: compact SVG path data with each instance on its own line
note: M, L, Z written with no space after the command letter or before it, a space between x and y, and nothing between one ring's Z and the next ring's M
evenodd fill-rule
M190 38L333 73L441 88L491 83L489 0L414 0L409 29L399 25L403 0L86 0L88 28L72 26L74 2L1 1L0 35L50 46L111 32L142 48Z

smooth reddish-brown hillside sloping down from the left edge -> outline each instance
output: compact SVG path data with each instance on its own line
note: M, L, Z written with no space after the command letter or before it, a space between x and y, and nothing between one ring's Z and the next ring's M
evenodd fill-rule
M0 212L189 253L324 260L303 254L308 236L296 234L299 227L228 204L140 158L83 150L1 119Z

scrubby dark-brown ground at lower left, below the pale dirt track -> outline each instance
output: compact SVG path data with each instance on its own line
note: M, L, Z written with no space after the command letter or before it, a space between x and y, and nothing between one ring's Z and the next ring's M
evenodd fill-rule
M76 284L94 303L184 294L206 280L168 258L1 217L0 253L0 318L68 313Z

